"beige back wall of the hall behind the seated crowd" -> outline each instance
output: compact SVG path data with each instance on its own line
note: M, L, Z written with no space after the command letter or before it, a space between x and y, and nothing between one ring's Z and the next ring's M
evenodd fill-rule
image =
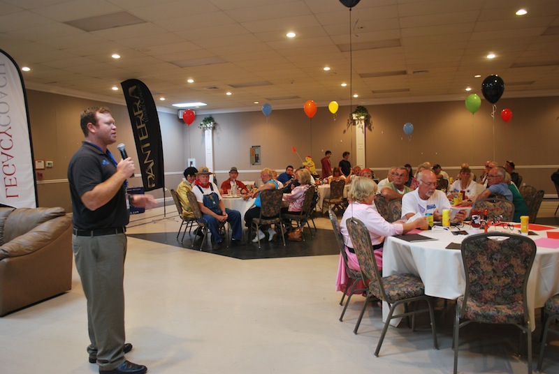
M80 112L88 106L107 105L117 121L117 142L124 142L128 154L138 158L133 143L130 121L124 105L99 103L92 100L61 96L53 93L27 91L34 157L54 161L54 167L43 170L38 182L39 205L61 206L71 210L66 179L66 167L83 139ZM508 107L512 119L505 124L500 110ZM549 179L559 167L556 140L559 135L559 99L502 98L498 102L495 120L491 105L484 101L472 115L463 101L441 103L411 103L398 105L367 105L373 129L365 134L367 167L379 177L386 175L391 165L410 163L414 166L429 160L440 163L451 176L461 163L470 163L474 172L485 160L493 159L493 126L495 128L495 158L498 163L514 160L524 182L555 194ZM332 164L337 165L344 151L351 152L355 163L354 131L347 126L349 107L340 107L337 115L319 107L311 120L301 109L273 110L266 117L260 110L230 114L214 114L217 126L213 131L214 168L218 182L227 177L229 167L240 170L241 180L255 180L262 167L284 170L288 164L300 165L300 158L312 156L317 169L324 151L333 152ZM187 167L187 158L196 158L196 165L205 164L205 140L198 124L205 117L198 114L191 126L185 126L176 114L159 112L164 144L166 188L175 188ZM414 125L410 139L403 133L406 122ZM473 134L472 134L473 131ZM473 138L473 141L472 141ZM262 165L252 166L249 149L261 146ZM295 147L297 154L292 152ZM110 151L118 154L116 144ZM298 156L299 155L299 156ZM477 167L477 169L476 169ZM129 181L139 186L140 177ZM161 190L153 191L157 198ZM166 197L169 198L168 193ZM168 204L172 208L172 204Z

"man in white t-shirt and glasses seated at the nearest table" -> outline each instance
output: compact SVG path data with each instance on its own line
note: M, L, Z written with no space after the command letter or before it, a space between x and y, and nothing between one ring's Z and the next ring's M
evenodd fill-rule
M402 218L409 220L433 214L433 220L442 220L442 210L450 209L447 195L437 190L437 176L431 170L423 170L417 174L419 186L402 197ZM461 222L466 212L461 210L453 218L453 222Z

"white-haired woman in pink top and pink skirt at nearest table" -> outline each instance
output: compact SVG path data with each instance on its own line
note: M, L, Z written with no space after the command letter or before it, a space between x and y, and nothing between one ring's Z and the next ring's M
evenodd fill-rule
M360 271L357 255L355 254L351 238L347 232L346 220L348 218L358 218L369 230L371 237L371 244L375 254L375 260L379 270L382 269L382 245L384 237L405 234L406 232L415 228L426 227L426 217L417 218L416 220L404 223L402 220L397 220L390 223L372 207L377 193L377 184L372 179L364 177L355 177L351 182L351 188L347 200L349 206L344 211L342 223L340 225L342 236L344 237L345 253L347 254L347 264L350 269ZM345 290L349 277L345 272L342 254L340 253L340 264L337 268L336 290Z

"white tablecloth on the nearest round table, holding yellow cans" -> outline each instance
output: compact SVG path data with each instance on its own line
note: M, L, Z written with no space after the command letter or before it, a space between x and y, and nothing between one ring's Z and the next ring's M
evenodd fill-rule
M465 225L465 229L469 229ZM498 231L513 233L499 227ZM530 229L532 230L532 229ZM491 227L489 232L495 231ZM530 239L547 237L546 231L535 231ZM551 230L559 231L559 229ZM483 232L483 231L479 231ZM514 230L518 233L518 229ZM419 276L425 285L425 293L433 297L456 299L465 292L465 274L460 250L445 248L450 243L461 243L465 235L453 235L449 231L428 230L421 232L435 241L409 242L387 237L382 254L382 275L410 273ZM559 249L537 247L536 257L528 278L528 308L532 329L535 328L535 308L544 306L549 297L559 293ZM383 306L383 319L388 315L388 305ZM393 324L398 324L395 321Z

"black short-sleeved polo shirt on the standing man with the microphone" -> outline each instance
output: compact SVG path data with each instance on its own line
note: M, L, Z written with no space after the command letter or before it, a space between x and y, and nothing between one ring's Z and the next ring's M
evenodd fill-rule
M129 222L126 208L126 185L103 207L91 211L85 207L81 196L115 174L117 167L108 153L89 142L75 152L68 164L68 182L72 200L73 225L80 230L123 227Z

